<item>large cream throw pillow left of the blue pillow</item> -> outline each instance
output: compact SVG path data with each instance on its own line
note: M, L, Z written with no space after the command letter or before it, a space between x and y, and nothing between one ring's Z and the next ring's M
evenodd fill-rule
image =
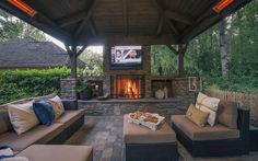
M9 117L17 135L39 124L32 106L33 101L23 104L8 105Z

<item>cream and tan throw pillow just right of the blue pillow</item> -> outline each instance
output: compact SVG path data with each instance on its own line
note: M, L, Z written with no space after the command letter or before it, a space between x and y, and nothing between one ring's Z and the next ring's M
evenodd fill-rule
M55 119L59 118L64 113L64 107L61 99L56 95L52 99L48 99L48 102L51 104L52 110L55 112Z

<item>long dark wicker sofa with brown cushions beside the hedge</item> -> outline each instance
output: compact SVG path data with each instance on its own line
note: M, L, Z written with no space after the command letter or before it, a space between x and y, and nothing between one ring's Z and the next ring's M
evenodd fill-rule
M31 100L50 99L55 94L31 97L12 102L11 104L25 103ZM17 136L12 129L8 117L8 104L0 105L0 128L9 130L0 134L0 145L12 147L19 153L31 145L60 145L63 143L75 130L84 124L84 111L79 110L77 101L63 100L64 114L50 126L38 125L33 129ZM3 131L0 129L0 131Z

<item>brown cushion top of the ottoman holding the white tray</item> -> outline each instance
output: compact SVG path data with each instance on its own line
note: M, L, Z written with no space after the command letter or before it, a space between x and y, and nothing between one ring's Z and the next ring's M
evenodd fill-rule
M176 142L175 131L164 123L157 130L128 123L124 116L124 141L125 143L163 143Z

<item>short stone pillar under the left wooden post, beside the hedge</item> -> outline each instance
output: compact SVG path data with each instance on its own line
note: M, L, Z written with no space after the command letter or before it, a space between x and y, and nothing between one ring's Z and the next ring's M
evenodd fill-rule
M63 100L77 100L77 79L67 78L60 80L61 85L61 99Z

